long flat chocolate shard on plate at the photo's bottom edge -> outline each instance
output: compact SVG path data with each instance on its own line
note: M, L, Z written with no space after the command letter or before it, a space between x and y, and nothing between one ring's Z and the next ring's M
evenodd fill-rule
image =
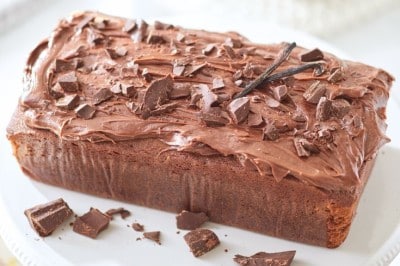
M295 250L277 253L257 252L250 257L235 255L233 260L240 266L290 266L295 255Z

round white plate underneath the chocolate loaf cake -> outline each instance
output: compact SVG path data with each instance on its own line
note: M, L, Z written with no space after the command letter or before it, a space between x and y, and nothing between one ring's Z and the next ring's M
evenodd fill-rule
M295 40L306 47L321 47L341 54L333 47L303 33L250 23L201 21L195 18L171 18L173 23L193 28L236 29L257 42ZM32 44L33 46L34 44ZM15 88L18 91L17 88ZM19 92L18 92L19 93ZM1 99L5 102L6 100ZM5 104L10 106L10 104ZM388 135L392 142L380 152L376 167L361 198L358 213L345 243L337 249L314 247L280 240L228 226L208 223L220 238L221 245L212 252L194 258L181 231L177 234L174 214L136 205L87 196L30 181L20 171L11 155L10 145L0 138L0 234L18 259L28 265L236 265L235 254L251 255L258 251L297 250L294 266L299 265L387 265L400 250L400 180L396 174L400 158L400 126L395 115L398 103L388 107ZM10 114L10 110L6 110ZM2 119L1 121L5 121ZM1 125L4 132L5 123ZM124 207L133 215L126 220L116 218L110 228L92 240L72 232L68 223L52 236L38 237L30 228L23 210L35 204L62 197L77 214L90 207L106 211ZM136 241L141 234L128 228L133 221L143 223L146 230L160 230L162 245L148 240ZM225 252L227 249L227 252Z

